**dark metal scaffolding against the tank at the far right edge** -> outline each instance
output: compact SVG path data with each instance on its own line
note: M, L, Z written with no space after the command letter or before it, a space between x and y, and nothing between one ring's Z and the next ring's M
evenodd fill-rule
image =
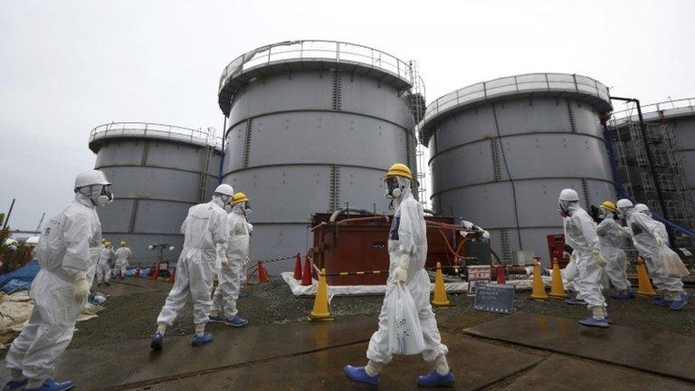
M611 119L611 129L624 195L649 206L654 214L674 224L688 229L695 227L695 203L676 157L678 142L672 126L664 122L646 122L642 132L639 121L628 114L625 118ZM645 146L652 155L651 166ZM659 186L654 181L658 181ZM666 210L662 210L659 202L658 188ZM675 247L695 248L691 236L674 232L671 240Z

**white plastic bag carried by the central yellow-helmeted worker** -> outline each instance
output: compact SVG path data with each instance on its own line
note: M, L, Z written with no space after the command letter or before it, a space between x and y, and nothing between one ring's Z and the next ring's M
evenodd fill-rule
M423 327L410 291L403 283L391 286L387 297L388 347L391 354L415 355L424 350Z

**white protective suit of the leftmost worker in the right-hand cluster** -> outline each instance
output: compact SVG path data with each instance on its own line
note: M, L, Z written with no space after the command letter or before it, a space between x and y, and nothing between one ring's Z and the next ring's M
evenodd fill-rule
M589 309L605 307L605 298L601 293L603 270L595 261L595 252L600 252L596 224L589 214L579 205L569 206L569 217L563 221L565 242L574 249L572 256L576 261L579 276L575 288L579 293L576 298L586 300Z

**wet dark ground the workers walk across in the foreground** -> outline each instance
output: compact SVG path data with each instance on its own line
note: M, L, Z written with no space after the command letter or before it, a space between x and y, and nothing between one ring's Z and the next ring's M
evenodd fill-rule
M148 336L170 284L126 279L98 291L112 295L100 317L78 325L55 369L77 389L213 390L365 389L342 374L363 365L382 298L335 298L333 322L306 322L310 299L297 299L281 281L248 289L239 301L249 327L213 324L213 343L190 346L191 306L167 332L162 352ZM96 287L95 287L96 288ZM654 306L651 300L609 300L612 329L586 329L586 309L561 300L538 302L518 294L518 313L472 310L465 295L437 309L443 342L461 390L695 390L695 310ZM4 353L2 353L4 355ZM430 370L419 356L396 358L382 373L381 389L416 389ZM6 379L5 368L0 380Z

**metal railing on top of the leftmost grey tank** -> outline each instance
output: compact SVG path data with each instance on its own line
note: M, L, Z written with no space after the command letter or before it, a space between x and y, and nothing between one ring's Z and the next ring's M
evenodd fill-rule
M161 138L222 149L222 138L217 138L212 128L189 129L149 122L111 122L100 125L91 129L90 144L98 139L115 137Z

